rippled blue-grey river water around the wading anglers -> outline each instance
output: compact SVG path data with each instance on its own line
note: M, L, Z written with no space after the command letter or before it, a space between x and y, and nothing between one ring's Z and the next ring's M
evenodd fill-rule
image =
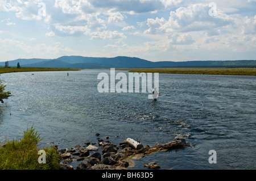
M131 137L150 146L181 135L191 147L147 155L132 169L152 161L161 169L256 169L255 76L159 74L154 102L148 93L100 94L102 71L109 73L1 74L13 96L0 107L0 141L21 138L32 124L40 146L60 149L97 142L96 133L114 144ZM208 162L209 150L216 150L216 164Z

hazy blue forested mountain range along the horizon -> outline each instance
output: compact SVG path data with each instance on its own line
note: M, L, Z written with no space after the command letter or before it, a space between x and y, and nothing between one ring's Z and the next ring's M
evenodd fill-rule
M82 57L63 56L56 59L17 59L8 61L9 66L40 68L76 68L76 69L100 69L100 68L167 68L167 67L250 67L256 68L256 60L225 60L225 61L159 61L152 62L137 57L118 56L105 57ZM0 62L5 66L5 62Z

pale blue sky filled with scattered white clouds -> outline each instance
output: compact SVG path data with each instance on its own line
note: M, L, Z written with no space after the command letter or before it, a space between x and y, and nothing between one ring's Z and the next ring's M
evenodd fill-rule
M256 0L0 0L0 61L256 60Z

